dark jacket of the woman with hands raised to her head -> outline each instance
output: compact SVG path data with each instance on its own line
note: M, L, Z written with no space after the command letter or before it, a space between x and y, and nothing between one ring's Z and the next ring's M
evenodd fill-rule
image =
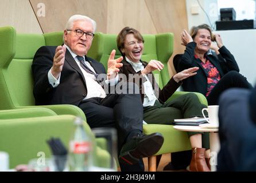
M182 87L185 92L199 92L205 96L207 93L207 73L205 73L200 59L195 58L195 47L195 42L188 43L184 54L175 55L173 65L177 72L190 67L199 67L196 75L183 80ZM239 72L239 67L230 51L225 46L222 46L219 52L222 57L221 59L216 58L214 55L207 55L206 57L218 69L220 77L223 77L224 74L231 70Z

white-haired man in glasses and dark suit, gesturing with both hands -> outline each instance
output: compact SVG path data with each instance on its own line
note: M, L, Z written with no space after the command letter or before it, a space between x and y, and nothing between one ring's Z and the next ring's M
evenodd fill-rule
M117 83L123 58L114 59L113 50L106 74L102 63L87 57L95 30L94 20L73 15L64 30L63 46L42 46L37 50L32 64L36 105L76 105L86 114L91 128L117 128L121 170L143 170L142 157L158 152L164 139L159 133L142 134L139 93L108 94L103 89L106 83ZM104 77L99 81L99 74L106 75L106 81L102 81Z

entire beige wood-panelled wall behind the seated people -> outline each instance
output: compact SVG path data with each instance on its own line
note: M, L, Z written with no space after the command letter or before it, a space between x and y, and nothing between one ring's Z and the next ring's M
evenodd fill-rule
M84 14L95 19L96 31L103 33L117 34L125 26L142 34L172 32L173 55L184 51L180 33L188 29L185 0L1 0L0 5L0 26L13 25L18 32L60 31L71 15ZM170 66L172 74L172 62Z

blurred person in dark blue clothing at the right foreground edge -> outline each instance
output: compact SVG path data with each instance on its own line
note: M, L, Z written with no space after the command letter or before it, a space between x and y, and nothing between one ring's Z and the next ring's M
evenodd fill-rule
M218 171L255 171L256 87L227 90L219 101Z

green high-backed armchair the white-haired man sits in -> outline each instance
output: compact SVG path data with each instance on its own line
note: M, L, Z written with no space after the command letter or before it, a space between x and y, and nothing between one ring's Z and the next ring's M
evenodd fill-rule
M0 28L0 109L35 107L31 65L37 49L44 45L42 34L16 34L14 27ZM86 121L83 111L77 106L43 107L56 114L80 116Z

